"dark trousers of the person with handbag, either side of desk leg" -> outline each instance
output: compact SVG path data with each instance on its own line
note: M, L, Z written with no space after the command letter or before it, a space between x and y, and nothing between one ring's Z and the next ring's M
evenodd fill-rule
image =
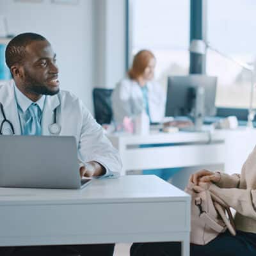
M132 244L131 256L180 256L180 243L136 243ZM190 256L255 256L256 234L237 231L220 234L210 243L190 244Z

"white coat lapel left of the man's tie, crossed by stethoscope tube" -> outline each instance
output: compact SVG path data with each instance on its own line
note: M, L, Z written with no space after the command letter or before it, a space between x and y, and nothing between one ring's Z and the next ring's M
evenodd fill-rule
M10 83L4 84L0 87L0 102L3 104L6 119L13 125L15 135L20 135L20 121L13 86L13 81L10 81ZM0 121L2 122L2 120L3 116L0 116ZM3 134L12 134L12 130L9 125L4 125Z

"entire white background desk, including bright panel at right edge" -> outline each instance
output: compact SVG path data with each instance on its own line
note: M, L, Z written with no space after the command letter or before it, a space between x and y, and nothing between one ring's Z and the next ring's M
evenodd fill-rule
M109 134L108 138L120 152L122 174L129 170L209 165L221 165L225 172L239 173L256 145L256 129L216 130L211 135L207 132ZM155 147L156 144L161 147Z

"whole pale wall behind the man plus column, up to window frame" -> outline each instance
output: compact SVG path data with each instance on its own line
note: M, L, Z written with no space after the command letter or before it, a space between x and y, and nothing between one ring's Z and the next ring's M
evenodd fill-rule
M114 87L125 74L125 0L53 4L0 0L9 33L44 35L57 54L61 89L93 112L92 88Z

